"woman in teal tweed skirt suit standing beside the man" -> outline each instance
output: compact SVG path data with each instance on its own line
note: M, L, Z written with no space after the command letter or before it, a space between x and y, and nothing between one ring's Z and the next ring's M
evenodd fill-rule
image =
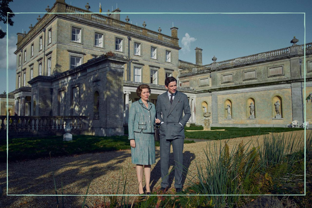
M149 181L151 177L151 165L155 163L155 140L154 140L154 122L155 105L149 102L151 90L148 85L140 85L136 93L140 100L133 102L129 111L129 140L131 146L132 163L136 164L136 172L139 182L139 194L144 194L142 179L143 166L145 174L146 194L150 194Z

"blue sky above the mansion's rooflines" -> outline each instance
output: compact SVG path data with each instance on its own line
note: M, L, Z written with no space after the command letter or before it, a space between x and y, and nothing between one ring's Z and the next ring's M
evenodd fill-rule
M13 12L46 12L55 0L15 0L9 4ZM89 2L90 11L99 12L98 0L66 0L67 4L85 8ZM279 0L279 1L101 1L102 10L106 12L117 7L121 12L306 12L306 42L312 42L311 29L311 1L310 0ZM8 28L9 38L9 92L15 89L15 62L17 32L29 31L30 24L35 25L39 14L15 14L14 26ZM172 24L178 27L179 59L195 63L195 47L201 47L203 64L212 62L216 56L217 61L224 61L260 52L291 46L293 36L299 39L298 44L304 43L304 14L121 14L120 20L124 21L129 16L132 24L142 27L143 21L146 28L157 31L162 28L162 33L171 35ZM6 30L6 24L0 23ZM5 49L6 38L0 40L0 47ZM6 52L0 51L0 82L6 83ZM0 93L6 90L1 85Z

